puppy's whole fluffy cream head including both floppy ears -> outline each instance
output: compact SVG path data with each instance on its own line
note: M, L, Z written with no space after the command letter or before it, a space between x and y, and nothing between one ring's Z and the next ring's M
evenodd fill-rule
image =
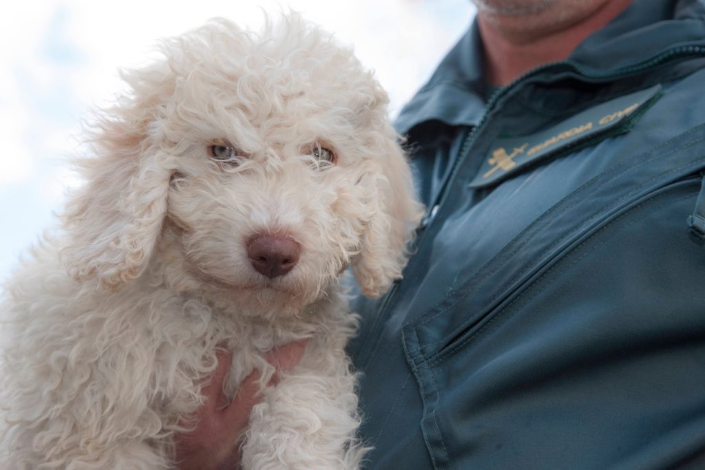
M367 295L400 277L422 211L386 94L350 51L296 16L258 35L216 21L164 51L99 123L66 218L75 276L128 283L168 241L252 311L297 311L350 264Z

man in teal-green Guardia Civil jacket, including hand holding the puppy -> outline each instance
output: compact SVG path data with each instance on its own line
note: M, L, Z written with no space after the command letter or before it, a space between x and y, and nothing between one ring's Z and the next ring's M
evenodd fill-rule
M475 3L398 119L429 214L355 305L366 468L703 467L705 1Z

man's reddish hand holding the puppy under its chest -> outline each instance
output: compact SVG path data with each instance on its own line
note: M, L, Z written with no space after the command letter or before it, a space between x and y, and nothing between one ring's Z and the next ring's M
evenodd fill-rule
M299 363L306 342L291 342L267 355L267 361L277 371L288 371ZM230 369L231 352L218 353L218 366L202 393L206 402L198 410L196 428L176 435L176 462L179 470L233 470L238 468L240 455L235 441L247 426L252 407L259 401L259 371L247 376L230 404L223 394L223 381ZM276 384L277 376L270 382Z

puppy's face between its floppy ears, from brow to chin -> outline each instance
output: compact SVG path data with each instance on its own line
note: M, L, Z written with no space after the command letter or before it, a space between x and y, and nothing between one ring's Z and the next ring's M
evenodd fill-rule
M276 97L279 85L267 89L264 78L250 106ZM296 310L319 297L360 254L376 211L379 166L359 139L370 130L336 84L307 88L262 120L233 102L174 155L167 217L191 273L253 309ZM338 105L312 105L319 94Z

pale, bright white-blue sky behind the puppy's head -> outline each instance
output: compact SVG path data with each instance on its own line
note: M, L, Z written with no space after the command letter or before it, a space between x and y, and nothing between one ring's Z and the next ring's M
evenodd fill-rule
M118 68L154 56L161 37L223 16L257 28L292 8L352 45L375 70L396 116L474 16L470 0L25 0L0 16L0 282L55 224L81 121L123 85Z

